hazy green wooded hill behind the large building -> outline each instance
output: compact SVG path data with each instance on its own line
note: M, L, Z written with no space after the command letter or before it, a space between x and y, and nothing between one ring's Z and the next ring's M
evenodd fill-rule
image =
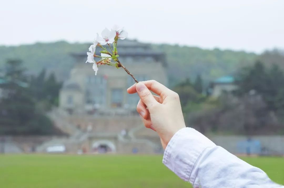
M251 64L257 57L254 53L232 50L206 50L197 47L168 44L153 44L153 49L166 53L170 85L178 81L195 79L201 74L208 82L219 76L232 74L244 65ZM54 71L58 78L68 77L74 64L71 52L84 52L89 44L68 43L64 41L36 43L20 46L0 46L0 67L9 58L22 59L31 74L46 68Z

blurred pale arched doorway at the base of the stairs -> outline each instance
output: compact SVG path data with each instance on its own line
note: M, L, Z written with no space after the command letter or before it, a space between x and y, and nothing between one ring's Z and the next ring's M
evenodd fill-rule
M92 151L94 153L115 153L116 147L109 140L99 140L93 143Z

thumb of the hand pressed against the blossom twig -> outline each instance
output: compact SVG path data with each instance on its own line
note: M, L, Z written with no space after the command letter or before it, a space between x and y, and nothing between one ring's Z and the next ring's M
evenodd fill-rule
M146 104L148 108L158 103L145 84L138 82L135 87L141 101Z

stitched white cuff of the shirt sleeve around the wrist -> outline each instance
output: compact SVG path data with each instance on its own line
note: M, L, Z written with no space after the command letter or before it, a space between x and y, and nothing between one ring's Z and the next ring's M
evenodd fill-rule
M216 146L195 129L185 127L171 138L163 157L163 163L184 181L194 182L197 170L192 172L202 151Z

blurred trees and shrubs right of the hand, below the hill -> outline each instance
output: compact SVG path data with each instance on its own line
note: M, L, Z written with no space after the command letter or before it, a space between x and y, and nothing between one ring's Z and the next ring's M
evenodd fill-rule
M198 92L199 79L176 86L187 126L202 133L284 134L283 69L256 61L239 69L234 78L237 89L217 99Z

